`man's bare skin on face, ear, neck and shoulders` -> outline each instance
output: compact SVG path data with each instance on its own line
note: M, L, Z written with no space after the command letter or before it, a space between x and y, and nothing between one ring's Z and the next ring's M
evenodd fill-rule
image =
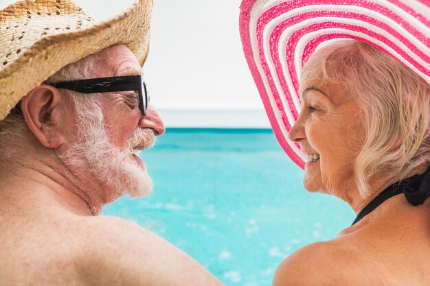
M124 45L100 53L98 77L141 71ZM102 110L106 136L128 152L137 128L157 136L164 126L152 106L142 116L123 96L104 95ZM22 108L29 126L21 146L24 163L0 169L0 285L221 285L157 235L100 215L104 204L124 193L92 174L89 163L79 169L60 159L77 140L67 95L41 85L23 99ZM146 174L140 159L128 157Z

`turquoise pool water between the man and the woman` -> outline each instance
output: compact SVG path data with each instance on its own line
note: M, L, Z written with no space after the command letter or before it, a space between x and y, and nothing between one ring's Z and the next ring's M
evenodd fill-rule
M154 191L103 214L149 228L228 286L271 285L288 254L354 219L341 200L304 190L271 130L168 129L141 156Z

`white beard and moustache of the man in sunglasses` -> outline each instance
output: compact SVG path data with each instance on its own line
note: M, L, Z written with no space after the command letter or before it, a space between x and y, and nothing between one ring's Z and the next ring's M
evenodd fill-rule
M103 124L102 110L96 104L90 107L77 106L78 134L70 149L61 154L65 165L82 171L102 183L100 193L105 203L113 202L128 193L132 198L140 198L152 191L152 179L146 167L140 166L133 151L152 147L155 136L150 129L138 128L126 141L124 150L111 143Z

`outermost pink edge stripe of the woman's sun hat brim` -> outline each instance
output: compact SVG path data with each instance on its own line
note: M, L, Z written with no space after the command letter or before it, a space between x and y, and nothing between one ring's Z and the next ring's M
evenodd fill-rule
M242 40L243 51L245 53L245 58L247 59L249 69L253 75L253 79L256 82L258 91L262 97L262 102L264 104L264 108L266 109L267 116L269 117L269 121L271 122L271 126L273 128L273 132L280 143L280 146L286 152L286 154L296 163L299 167L304 169L304 160L300 158L298 154L288 145L286 142L286 138L282 134L280 130L280 126L278 125L278 121L273 113L273 109L271 108L271 104L269 102L269 98L267 97L266 89L264 87L264 83L262 81L260 72L258 71L256 62L253 60L253 51L251 46L251 38L249 34L249 17L251 9L256 0L244 0L242 1L242 5L240 6L240 38ZM290 129L288 129L289 131ZM297 144L296 144L297 145Z

